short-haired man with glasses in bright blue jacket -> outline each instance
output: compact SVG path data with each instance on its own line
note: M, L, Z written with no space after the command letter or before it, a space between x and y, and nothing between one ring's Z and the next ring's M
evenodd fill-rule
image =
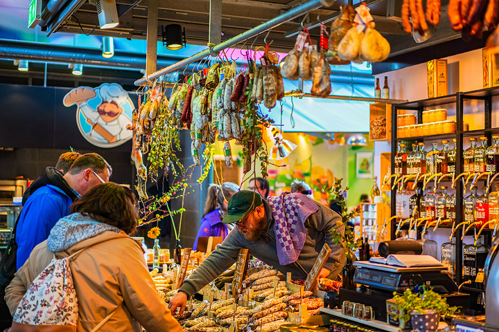
M98 154L78 157L67 174L48 167L50 184L38 188L26 200L16 228L17 269L23 266L38 243L45 241L53 225L69 214L69 205L91 188L107 183L112 167Z

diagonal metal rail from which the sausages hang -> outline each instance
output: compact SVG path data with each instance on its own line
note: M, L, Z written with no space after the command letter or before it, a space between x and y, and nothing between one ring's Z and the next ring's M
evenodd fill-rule
M285 12L282 15L274 17L273 19L270 19L269 21L266 21L265 23L260 24L259 26L255 26L254 28L245 31L244 33L241 33L236 37L232 37L231 39L228 39L225 42L222 42L216 46L207 48L206 50L202 50L201 52L196 53L191 57L186 57L185 59L181 60L180 62L177 62L176 64L172 64L171 66L165 67L155 73L152 73L148 77L142 77L140 80L135 81L134 84L135 85L146 84L152 80L155 80L159 76L171 73L172 71L177 71L178 69L187 66L192 62L204 59L204 57L207 57L209 55L217 56L220 50L224 50L225 48L229 48L231 46L239 44L240 42L244 42L246 39L255 37L256 35L259 35L266 30L279 26L279 24L283 24L289 21L290 19L295 19L296 17L299 17L300 15L306 12L310 12L311 10L315 10L322 6L326 7L332 6L333 2L334 0L310 0L304 3L303 5L288 10L288 12Z

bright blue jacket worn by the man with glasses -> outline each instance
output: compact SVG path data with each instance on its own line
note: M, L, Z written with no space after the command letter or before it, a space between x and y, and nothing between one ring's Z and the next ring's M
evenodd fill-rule
M55 185L44 185L29 196L17 223L17 268L23 266L38 243L45 241L53 225L69 214L71 198Z

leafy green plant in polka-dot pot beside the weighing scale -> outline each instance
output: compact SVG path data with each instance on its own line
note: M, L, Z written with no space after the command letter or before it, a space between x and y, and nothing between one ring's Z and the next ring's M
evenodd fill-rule
M423 291L413 293L406 289L402 295L394 293L394 302L399 306L399 315L395 320L412 322L412 329L416 331L436 331L440 315L453 315L457 306L449 306L447 300L435 293L430 286L420 287Z

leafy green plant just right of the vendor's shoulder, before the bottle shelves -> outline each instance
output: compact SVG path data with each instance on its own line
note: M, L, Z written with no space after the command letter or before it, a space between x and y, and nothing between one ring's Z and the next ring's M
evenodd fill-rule
M333 237L333 243L342 246L344 251L347 253L347 258L353 260L353 258L355 257L356 250L362 245L362 239L355 238L355 232L353 232L353 230L351 230L351 228L348 227L347 222L350 219L353 219L356 216L358 216L360 210L356 209L351 212L348 212L347 202L345 201L344 196L349 190L349 188L346 187L345 189L343 189L343 186L341 184L342 180L343 180L342 178L335 178L335 182L329 185L329 181L326 181L326 183L322 184L321 181L317 179L317 183L321 183L322 192L329 193L329 196L333 197L332 200L338 201L341 204L342 221L336 223L336 226L340 227L341 225L344 225L345 228L344 234L341 234L335 228L331 228L329 232Z

